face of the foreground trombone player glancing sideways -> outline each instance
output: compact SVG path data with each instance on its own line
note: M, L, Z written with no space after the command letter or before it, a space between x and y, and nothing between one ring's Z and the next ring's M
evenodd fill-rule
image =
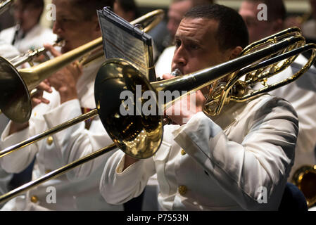
M220 50L217 27L215 20L184 18L175 34L172 70L178 68L186 75L229 60L231 50Z

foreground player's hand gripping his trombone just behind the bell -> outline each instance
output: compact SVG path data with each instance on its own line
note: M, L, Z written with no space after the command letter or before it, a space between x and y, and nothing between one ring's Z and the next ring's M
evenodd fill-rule
M173 78L170 74L163 75L163 79ZM198 112L203 110L205 98L201 91L184 96L179 101L165 110L165 115L168 115L172 122L182 125L186 124L189 119Z

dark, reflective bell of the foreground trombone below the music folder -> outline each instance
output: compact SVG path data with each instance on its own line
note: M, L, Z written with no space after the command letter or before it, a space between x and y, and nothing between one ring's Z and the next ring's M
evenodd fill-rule
M133 158L149 158L156 153L163 138L163 117L139 113L143 101L137 108L137 99L132 99L134 116L123 116L120 107L122 91L135 93L135 87L144 91L155 91L136 68L122 59L111 59L102 65L94 83L94 96L99 117L108 135L116 146ZM136 96L137 98L137 96ZM136 103L136 104L135 104ZM106 105L106 107L101 107ZM158 105L156 103L156 112ZM128 109L127 109L128 110Z

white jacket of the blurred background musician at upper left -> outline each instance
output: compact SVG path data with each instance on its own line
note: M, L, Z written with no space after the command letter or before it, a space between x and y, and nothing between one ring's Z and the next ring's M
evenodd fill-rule
M0 32L0 39L3 39L8 44L12 44L14 37L15 27L10 27ZM25 53L25 51L29 49L38 49L42 47L44 43L53 44L53 41L56 41L56 39L57 36L56 34L53 34L51 29L37 24L32 30L25 34L25 37L23 37L22 32L19 31L15 37L13 46L15 46L20 53Z

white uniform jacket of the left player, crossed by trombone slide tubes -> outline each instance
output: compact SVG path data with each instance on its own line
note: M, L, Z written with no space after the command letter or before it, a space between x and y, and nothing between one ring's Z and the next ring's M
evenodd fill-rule
M37 105L32 110L29 127L8 136L10 122L1 136L1 148L11 146L82 115L81 107L95 108L94 79L102 61L84 68L84 73L77 82L79 100L61 104L57 91L53 91L52 94L46 93L44 97L51 101L49 105ZM84 127L85 123L80 122L54 134L52 143L47 138L6 155L0 160L1 166L7 172L21 172L36 156L32 179L37 179L46 172L58 169L98 150L100 146L113 143L99 117L92 120L89 130ZM122 210L121 205L106 203L99 193L101 174L109 154L111 153L77 167L67 174L46 181L27 191L25 196L9 201L2 210ZM55 193L56 198L54 198ZM55 202L54 199L56 199Z

